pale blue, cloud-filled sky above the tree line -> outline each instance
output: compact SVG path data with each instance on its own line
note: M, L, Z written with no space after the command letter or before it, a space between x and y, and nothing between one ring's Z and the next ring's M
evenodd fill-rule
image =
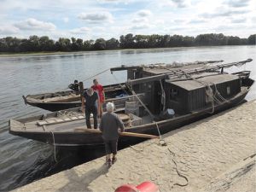
M256 0L0 0L0 38L256 33Z

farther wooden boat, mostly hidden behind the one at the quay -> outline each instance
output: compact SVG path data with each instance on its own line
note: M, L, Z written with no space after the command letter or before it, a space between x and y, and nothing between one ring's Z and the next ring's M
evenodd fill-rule
M204 67L207 64L214 64L222 62L220 61L195 61L195 62L173 62L172 65L168 64L154 64L148 66L136 66L130 67L130 69L138 68L156 68L156 67L166 67L168 72L170 70L185 70L189 67ZM117 68L112 68L112 70L117 70ZM130 70L130 71L131 71ZM106 70L105 70L106 71ZM105 95L107 98L106 102L111 102L117 96L131 96L131 92L127 89L126 84L122 84L123 88L119 84L110 84L104 86ZM36 95L23 96L24 102L28 105L32 105L38 108L44 108L49 111L59 111L67 108L77 108L81 106L80 96L76 94L73 90L62 90L54 93L42 93ZM124 98L125 99L125 98Z

